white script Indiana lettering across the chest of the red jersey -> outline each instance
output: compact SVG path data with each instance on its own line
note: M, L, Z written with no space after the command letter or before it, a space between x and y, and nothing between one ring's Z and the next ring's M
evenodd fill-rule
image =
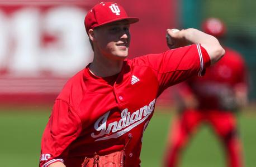
M114 121L114 122L108 123L107 125L108 115L110 114L110 111L108 111L106 114L99 117L99 119L94 124L94 129L96 131L100 131L99 134L96 135L93 132L91 136L93 138L96 138L96 137L101 137L103 135L110 134L110 132L113 133L109 136L101 137L95 140L95 141L101 141L101 140L117 138L121 135L124 135L126 132L129 132L134 127L144 122L150 116L150 114L153 113L154 105L155 105L155 99L151 101L149 105L145 105L144 107L141 107L139 110L132 112L132 114L128 112L128 109L124 109L121 112L121 119L119 121ZM102 122L102 124L100 124L100 122ZM118 130L121 130L121 131L118 131Z

